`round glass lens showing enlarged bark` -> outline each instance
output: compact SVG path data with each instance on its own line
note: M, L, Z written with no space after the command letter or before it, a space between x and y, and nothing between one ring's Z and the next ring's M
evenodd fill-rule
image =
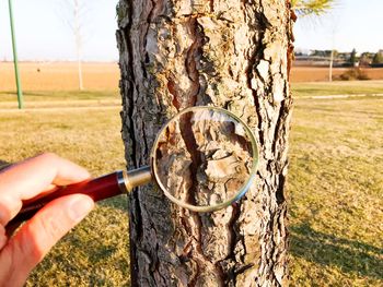
M245 192L255 171L252 132L223 109L179 113L159 134L154 153L159 186L188 208L229 205Z

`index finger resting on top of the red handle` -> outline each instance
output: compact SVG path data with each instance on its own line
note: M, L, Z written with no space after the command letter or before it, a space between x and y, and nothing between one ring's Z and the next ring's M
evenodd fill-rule
M89 177L84 168L50 153L8 168L0 172L0 224L5 226L23 200L36 196L49 184L76 183Z

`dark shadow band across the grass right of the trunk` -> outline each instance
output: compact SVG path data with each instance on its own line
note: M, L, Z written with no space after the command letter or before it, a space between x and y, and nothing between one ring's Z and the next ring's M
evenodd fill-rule
M290 226L290 252L294 256L343 272L383 279L383 249L364 242L315 231L309 224Z

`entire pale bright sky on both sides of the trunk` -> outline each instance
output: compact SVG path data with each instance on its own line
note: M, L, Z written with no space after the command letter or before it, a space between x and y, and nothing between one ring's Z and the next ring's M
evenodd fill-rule
M73 34L66 24L65 0L13 0L20 60L74 60ZM83 58L115 61L117 0L84 0L89 12L84 27ZM294 26L295 48L339 51L383 49L382 0L338 0L321 19L299 19ZM8 0L0 0L0 60L12 59Z

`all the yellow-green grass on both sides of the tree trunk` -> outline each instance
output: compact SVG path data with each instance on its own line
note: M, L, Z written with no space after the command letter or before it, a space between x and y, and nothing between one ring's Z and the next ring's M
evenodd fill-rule
M23 111L12 87L0 87L0 160L50 151L94 176L124 168L115 87L32 88ZM373 96L383 93L383 81L297 83L292 89L291 286L383 286L383 97ZM312 98L356 94L363 95ZM129 286L127 205L124 196L100 203L27 286Z

